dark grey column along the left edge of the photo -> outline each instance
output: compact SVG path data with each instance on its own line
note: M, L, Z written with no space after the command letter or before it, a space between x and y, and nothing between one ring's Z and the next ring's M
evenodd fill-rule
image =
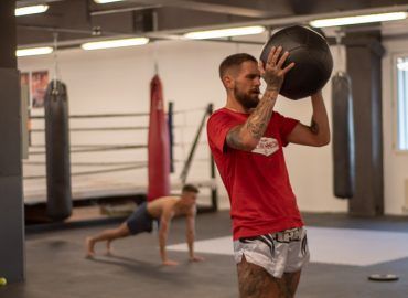
M0 1L0 276L24 279L20 74L17 70L15 1Z

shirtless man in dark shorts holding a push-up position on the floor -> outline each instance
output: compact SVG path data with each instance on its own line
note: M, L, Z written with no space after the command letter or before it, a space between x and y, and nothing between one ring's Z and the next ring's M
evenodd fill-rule
M181 196L163 196L141 204L120 226L108 228L93 237L87 237L85 241L86 257L93 257L95 255L94 247L97 242L106 241L107 253L110 254L110 244L114 240L124 238L142 232L151 232L153 221L159 220L159 245L162 264L167 266L178 265L176 262L168 258L165 243L172 217L182 215L186 219L189 259L191 262L203 260L202 257L194 255L195 201L198 189L196 187L185 184L182 189Z

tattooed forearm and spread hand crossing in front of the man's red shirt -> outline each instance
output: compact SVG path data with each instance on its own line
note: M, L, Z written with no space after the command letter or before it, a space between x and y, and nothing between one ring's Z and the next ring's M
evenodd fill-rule
M273 106L282 86L284 75L294 66L294 63L291 63L282 68L289 53L283 53L278 60L281 51L281 46L278 49L272 47L267 64L259 63L259 72L267 83L267 88L258 106L250 114L246 123L228 131L226 142L229 147L251 151L264 136L272 116Z

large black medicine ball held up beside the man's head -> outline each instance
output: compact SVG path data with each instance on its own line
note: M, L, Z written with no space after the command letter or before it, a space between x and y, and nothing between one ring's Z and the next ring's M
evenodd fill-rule
M279 30L265 44L260 60L266 63L272 46L282 46L289 57L283 67L294 62L283 81L280 94L290 99L308 97L328 83L333 70L333 58L325 39L312 29L293 25Z

